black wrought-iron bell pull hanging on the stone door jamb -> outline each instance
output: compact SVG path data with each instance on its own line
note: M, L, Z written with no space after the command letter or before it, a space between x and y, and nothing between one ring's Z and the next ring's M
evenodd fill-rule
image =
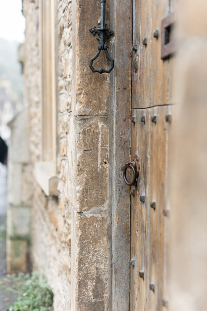
M114 60L110 57L107 51L108 46L107 44L105 44L105 39L112 35L114 32L109 27L106 28L106 0L101 0L101 22L98 23L98 25L100 25L100 27L96 28L96 26L93 26L89 29L89 31L92 32L93 35L95 35L96 33L99 35L99 37L97 37L97 40L100 43L98 44L98 50L96 55L90 59L89 67L91 68L92 72L109 73L114 68ZM111 66L109 69L94 69L93 67L93 61L98 57L101 50L104 50L106 57L110 60Z

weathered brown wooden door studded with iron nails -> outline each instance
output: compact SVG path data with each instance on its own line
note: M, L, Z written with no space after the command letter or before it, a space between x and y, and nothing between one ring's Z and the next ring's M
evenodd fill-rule
M171 0L133 0L131 157L140 173L131 186L131 311L168 307L173 11Z

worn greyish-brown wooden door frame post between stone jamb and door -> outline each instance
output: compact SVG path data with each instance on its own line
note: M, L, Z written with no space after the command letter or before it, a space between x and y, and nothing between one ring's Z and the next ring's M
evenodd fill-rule
M129 310L130 193L121 167L130 160L132 3L115 1L112 310ZM122 21L124 18L124 22ZM121 40L120 40L121 38Z

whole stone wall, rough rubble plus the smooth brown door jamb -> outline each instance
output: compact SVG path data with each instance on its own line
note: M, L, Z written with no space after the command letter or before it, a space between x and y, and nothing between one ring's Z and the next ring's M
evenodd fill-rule
M34 176L41 160L38 0L23 0L26 19L25 105L29 106L32 174L32 258L54 292L54 310L109 310L111 297L112 139L109 75L93 74L100 3L57 0L58 196ZM109 12L107 11L107 18ZM72 28L73 25L73 28ZM73 44L72 44L73 38ZM105 58L102 58L103 62ZM111 135L110 135L111 133ZM71 246L72 244L72 246Z

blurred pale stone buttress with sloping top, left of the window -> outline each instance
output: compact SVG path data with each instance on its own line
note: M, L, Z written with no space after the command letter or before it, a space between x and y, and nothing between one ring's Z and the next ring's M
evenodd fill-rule
M27 272L30 270L30 215L33 194L28 109L23 109L9 125L11 143L8 153L7 272Z

